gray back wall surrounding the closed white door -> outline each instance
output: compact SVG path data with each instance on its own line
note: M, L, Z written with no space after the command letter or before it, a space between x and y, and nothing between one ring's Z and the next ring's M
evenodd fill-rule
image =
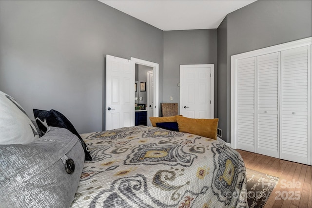
M217 101L217 30L164 31L163 101L179 103L181 64L215 64L215 117ZM170 101L173 96L173 101Z

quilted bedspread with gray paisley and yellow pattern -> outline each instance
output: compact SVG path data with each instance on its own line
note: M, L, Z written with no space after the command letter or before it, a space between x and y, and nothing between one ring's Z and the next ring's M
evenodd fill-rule
M218 141L146 126L81 136L93 161L72 207L247 207L244 162Z

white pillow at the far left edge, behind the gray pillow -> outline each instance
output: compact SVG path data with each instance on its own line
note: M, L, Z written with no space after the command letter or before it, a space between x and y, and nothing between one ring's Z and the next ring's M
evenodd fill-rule
M39 138L36 127L14 98L0 91L0 144L27 144Z

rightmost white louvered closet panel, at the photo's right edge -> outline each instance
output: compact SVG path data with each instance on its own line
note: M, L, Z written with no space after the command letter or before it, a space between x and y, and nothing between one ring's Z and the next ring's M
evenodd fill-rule
M281 52L280 158L304 164L311 160L310 53L311 46Z

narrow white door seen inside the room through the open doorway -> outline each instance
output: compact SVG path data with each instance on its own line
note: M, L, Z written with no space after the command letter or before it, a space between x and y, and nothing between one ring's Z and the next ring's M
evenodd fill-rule
M153 115L154 108L154 73L147 72L147 126L152 126L149 117Z

